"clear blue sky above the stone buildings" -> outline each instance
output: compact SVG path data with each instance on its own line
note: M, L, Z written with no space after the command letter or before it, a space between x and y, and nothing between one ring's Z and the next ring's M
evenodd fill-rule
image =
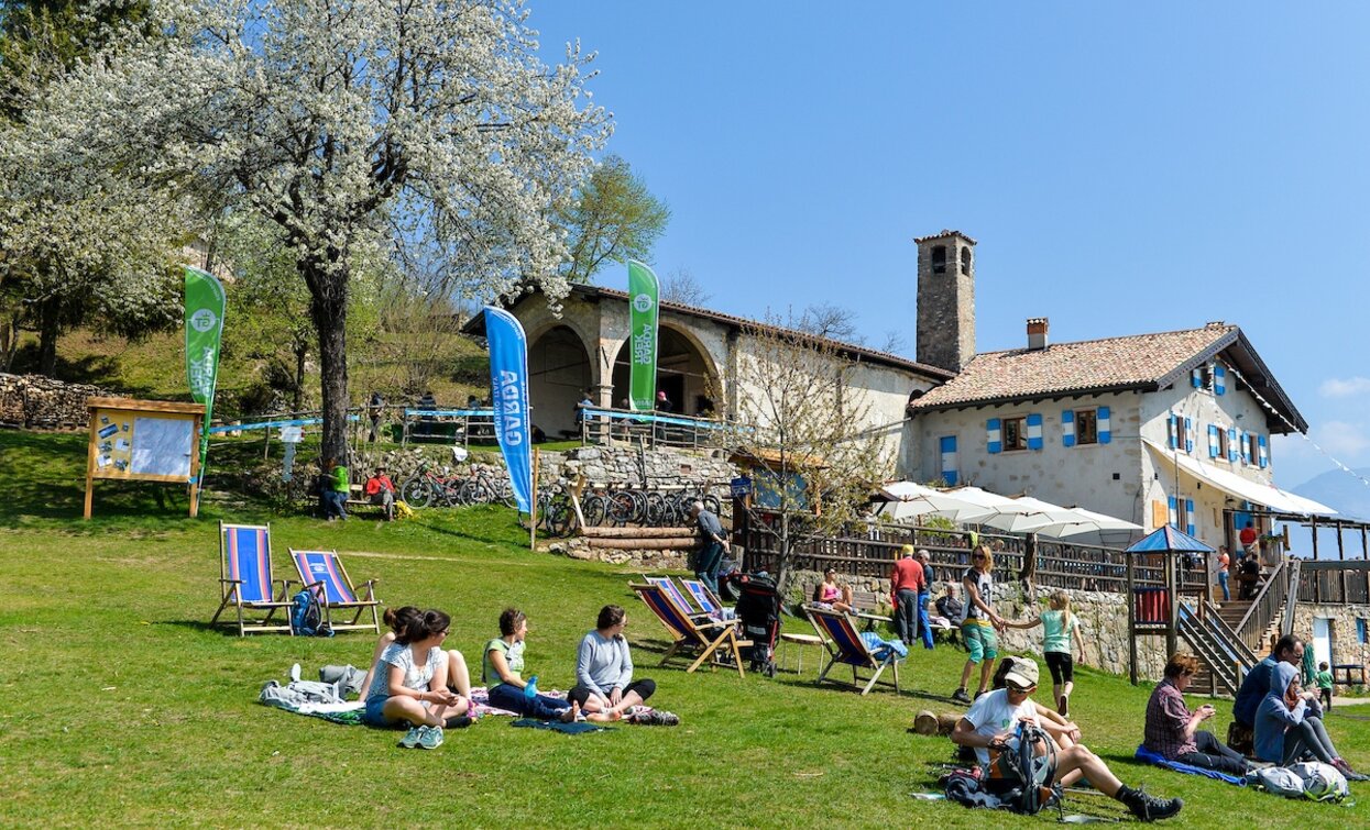
M610 151L673 211L656 271L715 308L845 305L914 356L912 237L960 229L980 351L1029 316L1054 342L1233 322L1370 466L1370 4L530 8L548 60L599 52ZM1282 486L1332 467L1274 459Z

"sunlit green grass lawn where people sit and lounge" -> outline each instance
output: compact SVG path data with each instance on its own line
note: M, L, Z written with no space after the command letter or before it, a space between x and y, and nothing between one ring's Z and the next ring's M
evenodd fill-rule
M627 590L630 573L532 553L508 511L426 511L395 525L273 516L215 497L196 520L184 496L101 485L79 519L85 436L0 431L0 826L289 825L544 826L1030 826L1051 820L915 801L951 757L945 738L906 733L922 708L955 711L963 653L915 651L903 696L859 697L775 679L658 668L664 631ZM443 608L478 666L496 618L530 619L529 668L544 688L573 679L574 648L600 605L629 609L640 677L675 729L625 726L569 737L488 718L437 751L395 733L334 726L256 703L292 663L362 664L374 640L259 636L206 623L218 604L215 520L270 520L277 575L289 545L337 548L353 578L378 577L393 604ZM789 626L801 630L795 620ZM793 655L790 655L793 657ZM1073 708L1086 744L1129 783L1178 794L1173 827L1365 826L1370 808L1281 801L1130 760L1147 688L1084 670ZM1219 733L1230 704L1218 703ZM1360 715L1359 712L1365 712ZM1370 767L1370 708L1328 726ZM1354 785L1355 794L1370 794ZM1118 816L1093 794L1071 808ZM1360 816L1360 818L1356 818ZM1054 816L1052 816L1054 818Z

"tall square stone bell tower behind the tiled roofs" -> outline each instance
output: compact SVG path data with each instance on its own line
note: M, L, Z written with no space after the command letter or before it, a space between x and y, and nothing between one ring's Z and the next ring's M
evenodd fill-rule
M975 356L975 240L918 237L918 362L960 371Z

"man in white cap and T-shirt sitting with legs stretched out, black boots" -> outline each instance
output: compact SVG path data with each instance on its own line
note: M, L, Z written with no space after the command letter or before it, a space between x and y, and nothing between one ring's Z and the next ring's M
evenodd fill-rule
M1037 690L1036 662L1018 657L1004 675L1004 681L1003 689L981 694L966 716L956 722L956 727L951 733L951 740L955 744L975 749L985 786L992 794L999 794L995 793L997 786L1014 786L1011 778L1007 782L1003 778L991 778L991 767L993 763L1000 763L1000 756L1017 749L1014 730L1021 720L1029 720L1054 737L1064 730L1059 723L1037 718L1033 708L1030 696ZM993 762L991 751L996 753ZM1144 822L1170 818L1184 807L1184 801L1180 798L1158 798L1125 786L1108 770L1107 764L1084 744L1075 744L1056 752L1056 778L1066 778L1075 770L1080 770L1091 786L1122 803L1132 815Z

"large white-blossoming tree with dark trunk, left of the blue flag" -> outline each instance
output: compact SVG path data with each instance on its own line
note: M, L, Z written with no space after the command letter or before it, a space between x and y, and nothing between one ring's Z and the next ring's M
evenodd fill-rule
M19 162L58 152L278 225L310 290L323 453L342 457L359 257L422 241L453 285L566 293L553 223L610 131L588 56L536 56L518 0L153 0L58 82ZM232 325L232 312L230 312Z

